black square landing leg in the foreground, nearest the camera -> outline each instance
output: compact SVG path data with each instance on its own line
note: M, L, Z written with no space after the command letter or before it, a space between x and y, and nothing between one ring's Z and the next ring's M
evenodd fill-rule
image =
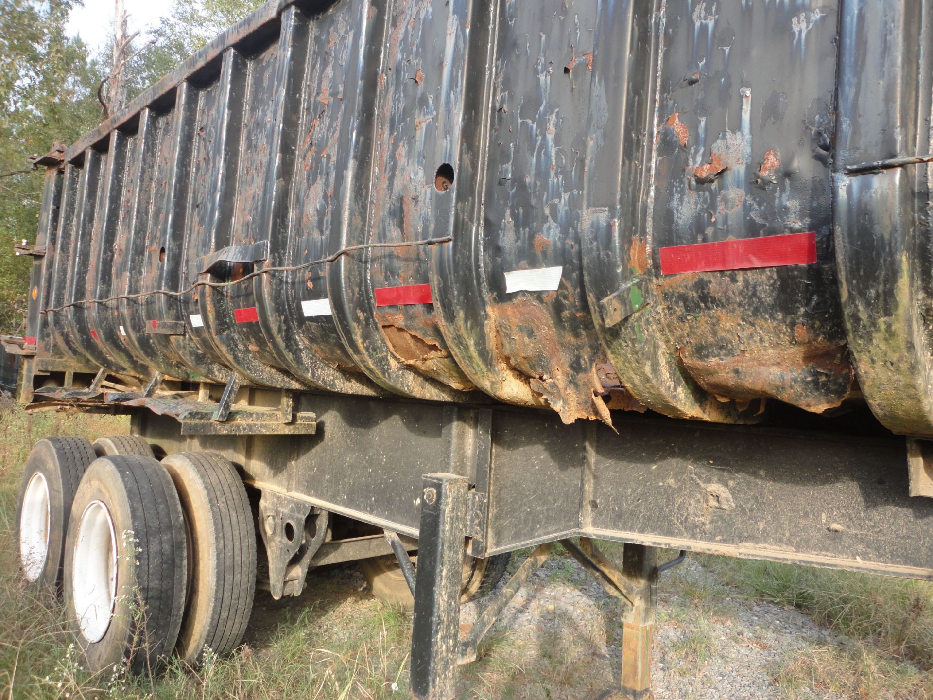
M468 485L453 474L424 480L411 630L411 693L418 700L453 698Z

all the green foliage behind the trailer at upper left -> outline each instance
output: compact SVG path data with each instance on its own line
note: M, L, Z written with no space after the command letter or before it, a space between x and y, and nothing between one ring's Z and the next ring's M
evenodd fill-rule
M13 243L35 240L42 198L42 170L26 159L56 141L77 141L97 126L97 88L109 72L111 46L96 57L65 34L80 0L4 0L0 11L0 333L21 333L30 259ZM195 50L261 5L258 0L175 0L148 46L137 39L127 65L128 97L171 72ZM132 17L131 17L132 28Z

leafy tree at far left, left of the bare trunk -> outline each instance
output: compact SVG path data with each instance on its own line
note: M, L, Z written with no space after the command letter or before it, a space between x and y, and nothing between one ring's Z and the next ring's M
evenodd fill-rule
M97 123L100 66L65 35L74 0L4 0L0 11L0 331L19 332L29 260L13 243L35 240L43 176L26 158L70 143ZM25 172L23 172L25 171Z

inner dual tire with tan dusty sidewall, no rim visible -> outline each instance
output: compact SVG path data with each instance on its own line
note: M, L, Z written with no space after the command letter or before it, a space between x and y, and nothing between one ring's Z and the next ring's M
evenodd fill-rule
M161 465L188 525L188 600L175 651L197 664L205 647L226 654L243 639L256 591L256 528L243 480L227 459L185 452Z

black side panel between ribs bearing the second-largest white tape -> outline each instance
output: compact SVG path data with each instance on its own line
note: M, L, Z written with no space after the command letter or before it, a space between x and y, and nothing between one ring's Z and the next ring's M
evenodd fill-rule
M269 260L276 267L299 268L326 258L329 231L341 217L334 189L341 179L341 127L355 110L361 42L371 32L366 3L342 3L313 22L299 9L288 26L306 23L303 47L285 70L270 153ZM292 30L294 31L294 30ZM293 42L294 44L294 42ZM299 50L300 49L300 50ZM327 269L313 266L263 275L253 282L258 323L270 352L282 367L308 385L338 392L379 391L356 367L334 326L327 298Z

